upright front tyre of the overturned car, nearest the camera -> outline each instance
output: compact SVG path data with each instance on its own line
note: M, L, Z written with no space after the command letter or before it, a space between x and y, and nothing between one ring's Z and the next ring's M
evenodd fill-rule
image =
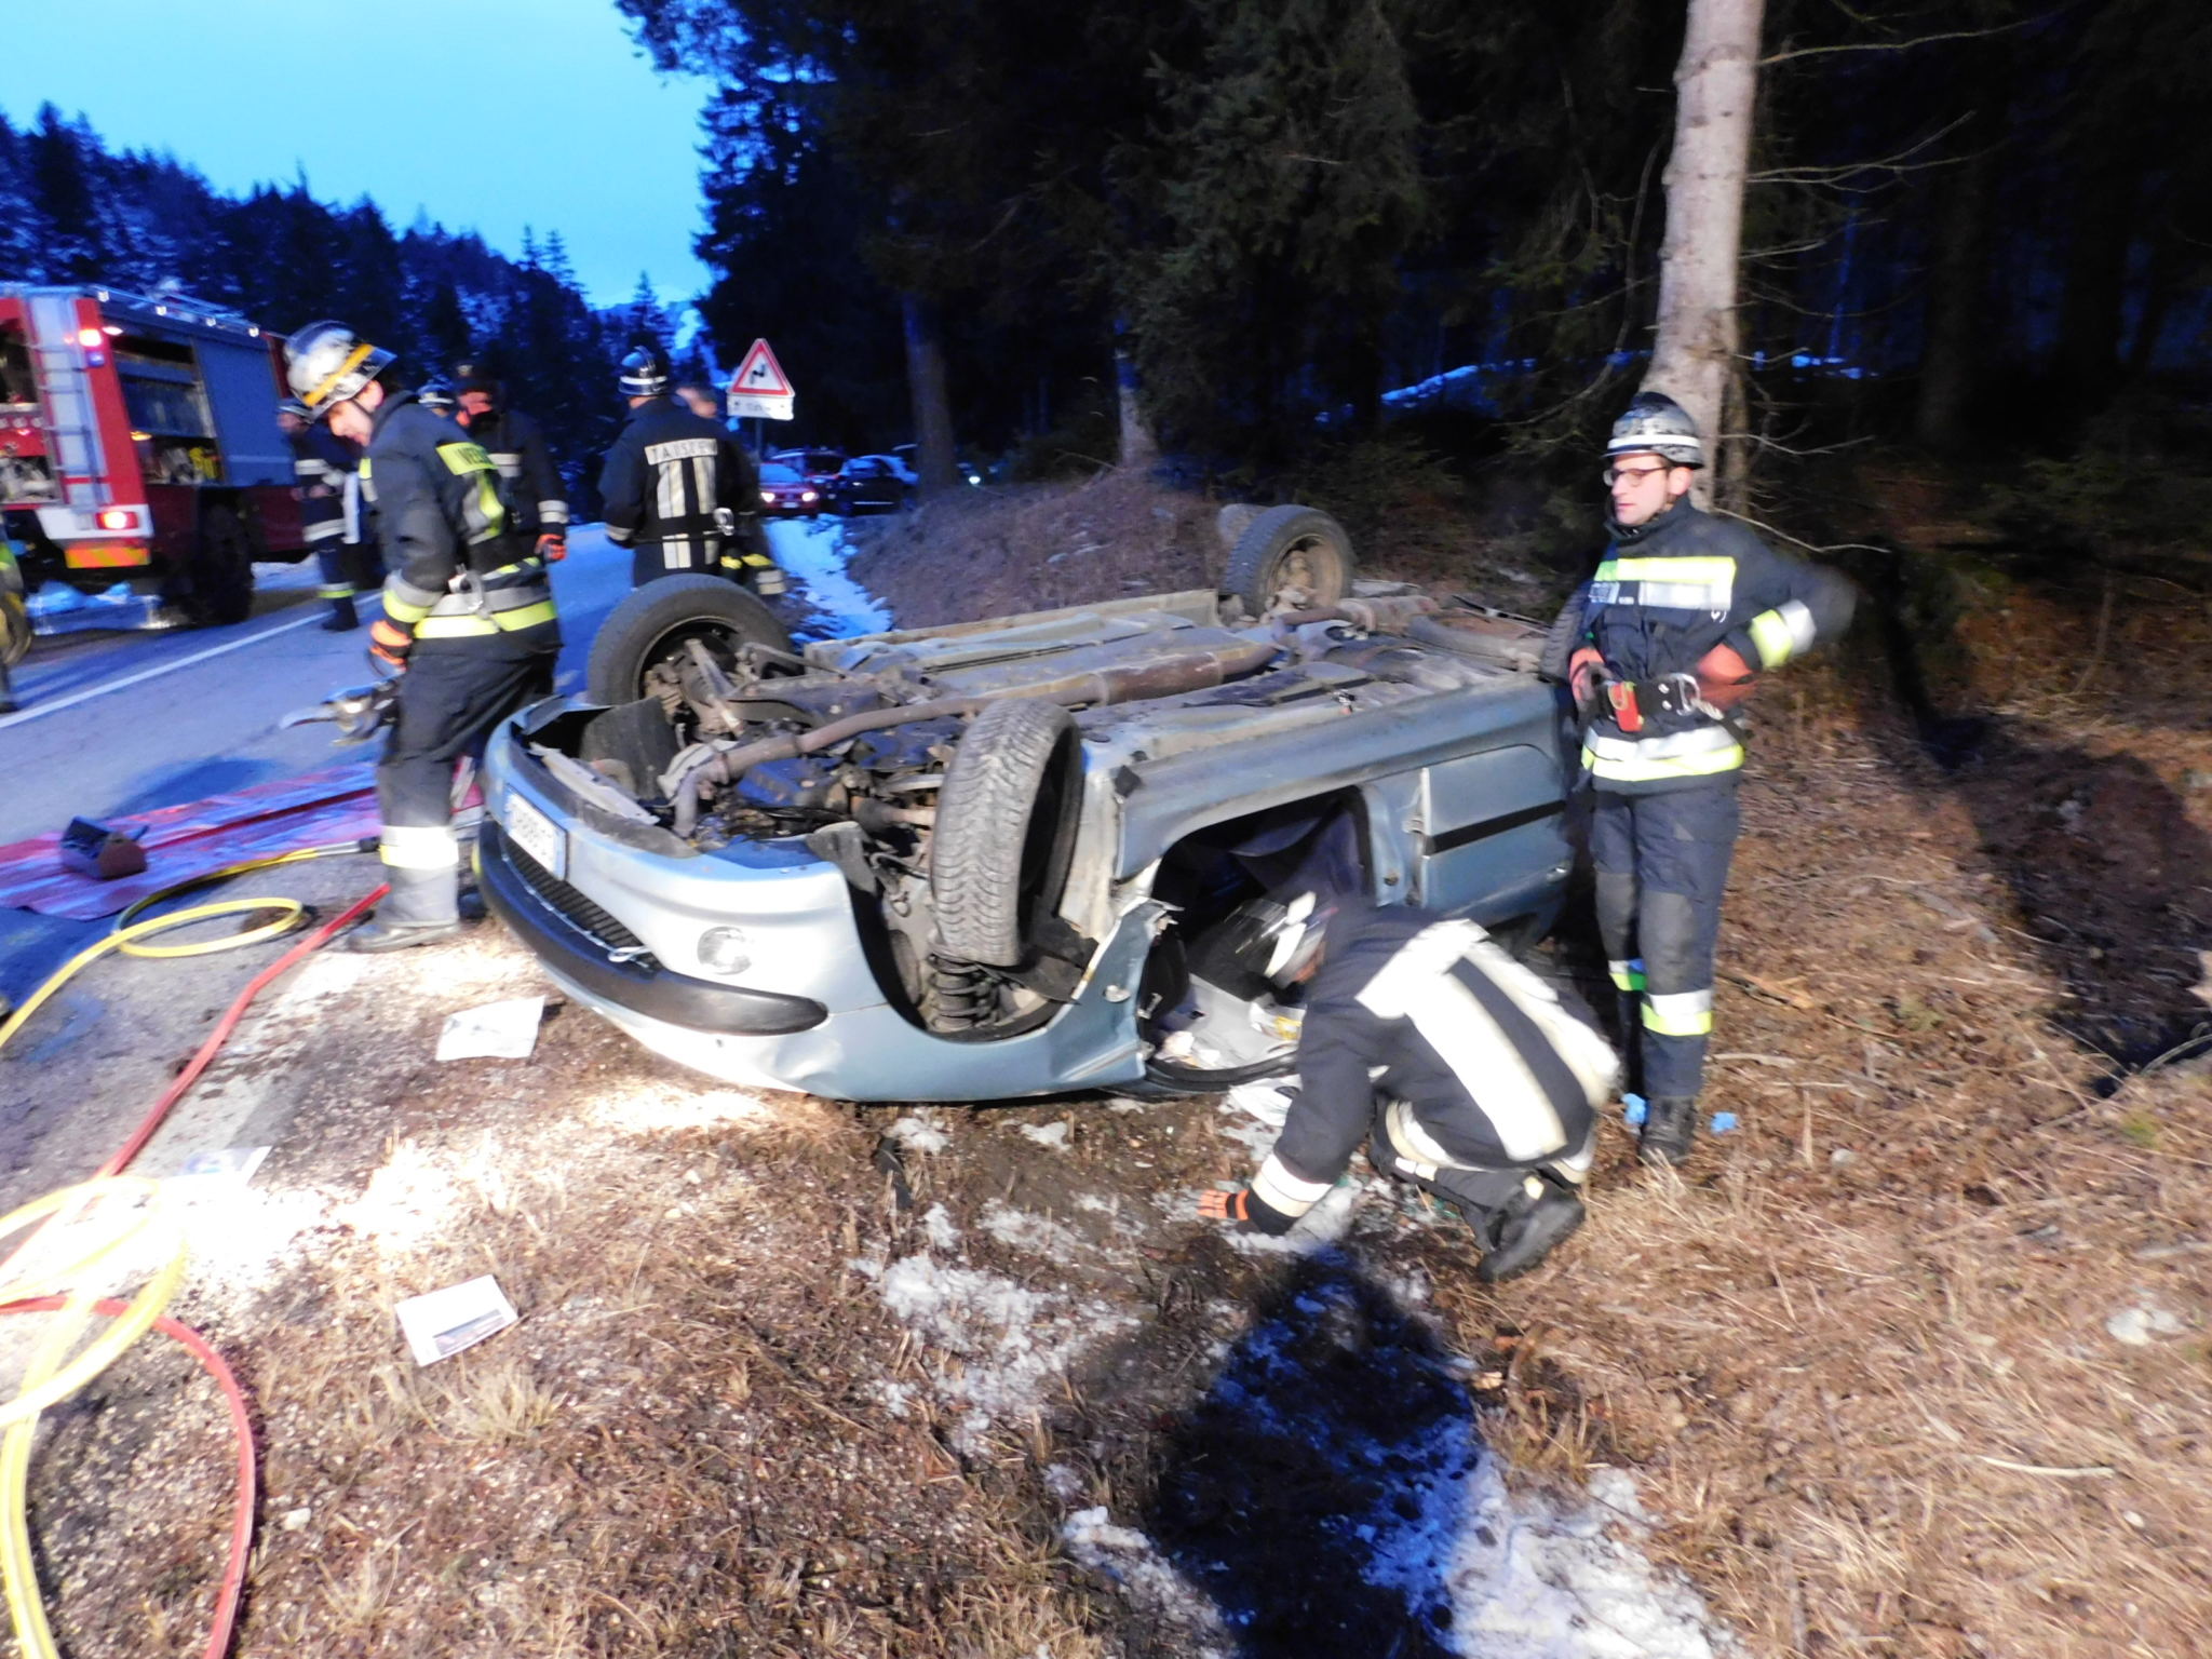
M1040 697L989 703L945 770L929 841L938 951L1020 967L1060 907L1084 781L1075 717Z

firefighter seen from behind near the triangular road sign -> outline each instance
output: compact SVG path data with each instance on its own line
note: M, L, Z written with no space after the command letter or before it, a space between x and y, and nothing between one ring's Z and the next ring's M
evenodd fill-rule
M650 345L622 358L630 418L606 451L606 538L630 549L630 584L719 571L763 597L783 571L761 531L761 476L730 431L668 396L668 363Z

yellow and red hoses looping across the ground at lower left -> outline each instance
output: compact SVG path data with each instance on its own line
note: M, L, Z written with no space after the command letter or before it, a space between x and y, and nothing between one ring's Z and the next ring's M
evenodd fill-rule
M226 898L212 905L195 905L190 909L139 920L153 905L254 869L301 863L305 858L334 858L338 854L367 852L374 845L374 841L347 841L327 847L301 847L299 852L276 854L270 858L252 858L204 876L192 876L190 880L175 883L137 900L115 918L115 925L106 936L69 958L69 962L55 969L27 1002L15 1009L4 1024L0 1024L0 1046L7 1046L7 1042L22 1031L24 1022L49 998L53 998L55 991L75 978L77 971L111 951L168 960L212 956L217 951L234 951L246 945L261 945L263 940L281 938L283 933L305 927L312 920L307 907L296 898ZM332 940L343 927L376 905L385 891L385 887L378 887L356 900L343 914L314 929L314 933L257 973L223 1011L223 1018L217 1022L215 1031L208 1033L208 1040L199 1046L184 1071L179 1071L170 1086L161 1091L161 1099L155 1102L153 1110L146 1113L131 1137L115 1150L113 1157L108 1157L106 1164L100 1166L100 1172L91 1181L51 1192L44 1199L27 1203L13 1214L0 1217L0 1239L38 1223L31 1239L18 1245L11 1256L0 1261L0 1314L60 1314L33 1349L18 1396L0 1402L0 1582L4 1582L9 1624L15 1630L15 1644L24 1659L58 1659L53 1632L46 1624L44 1599L38 1588L27 1506L31 1447L38 1433L38 1418L44 1409L66 1400L71 1394L100 1376L100 1371L113 1365L124 1349L137 1343L137 1338L142 1338L148 1329L159 1329L164 1336L181 1343L215 1378L230 1409L230 1425L239 1447L239 1482L232 1504L230 1548L223 1564L221 1588L217 1590L215 1621L208 1632L204 1659L221 1659L230 1650L230 1637L237 1626L239 1597L246 1588L246 1566L252 1557L254 1537L257 1460L252 1418L246 1409L246 1391L239 1387L237 1376L232 1376L221 1354L217 1354L190 1325L181 1325L164 1312L184 1281L184 1232L161 1208L159 1186L155 1181L126 1179L122 1177L122 1170L139 1155L146 1141L153 1139L153 1133L161 1126L168 1110L208 1068L208 1062L215 1060L217 1051L237 1029L252 1000L272 980L285 973L285 969ZM157 933L206 922L217 916L263 914L272 920L212 940L190 940L184 945L146 942ZM126 1210L128 1214L124 1214ZM119 1225L111 1225L108 1234L100 1234L93 1228L102 1219ZM64 1239L71 1232L88 1234L88 1241L71 1245L75 1254L42 1263L38 1245L46 1239L49 1230L58 1230ZM126 1252L131 1256L128 1265L144 1267L148 1245L157 1265L153 1267L146 1285L131 1301L95 1296L84 1283L80 1283L95 1270L115 1263L115 1259ZM97 1338L86 1343L82 1352L71 1356L71 1349L77 1347L77 1338L95 1314L106 1316L113 1323Z

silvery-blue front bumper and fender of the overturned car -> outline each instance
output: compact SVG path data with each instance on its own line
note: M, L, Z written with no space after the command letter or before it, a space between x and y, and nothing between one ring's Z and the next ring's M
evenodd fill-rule
M836 1099L1013 1099L1144 1075L1135 991L1159 907L1121 918L1075 1000L1037 1031L940 1037L885 995L834 865L794 843L690 854L593 821L518 739L562 708L553 699L493 734L480 860L487 902L580 1006L710 1077ZM557 876L504 832L515 799L560 827ZM710 927L745 931L741 975L699 964Z

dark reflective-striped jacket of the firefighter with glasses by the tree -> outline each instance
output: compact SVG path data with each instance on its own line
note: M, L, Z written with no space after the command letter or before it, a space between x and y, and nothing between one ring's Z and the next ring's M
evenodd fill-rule
M1641 726L1626 730L1617 712L1590 721L1584 768L1599 790L1619 794L1734 774L1743 765L1741 726L1694 695L1663 699L1663 681L1694 677L1714 646L1730 646L1752 670L1781 668L1849 622L1845 577L1776 553L1688 498L1648 524L1615 526L1584 595L1577 644L1593 646L1606 672L1635 688Z

